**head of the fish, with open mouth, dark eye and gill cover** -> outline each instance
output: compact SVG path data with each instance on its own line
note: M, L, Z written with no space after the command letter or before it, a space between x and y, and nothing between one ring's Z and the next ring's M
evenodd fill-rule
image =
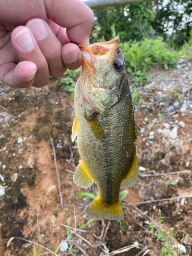
M83 63L77 96L93 111L106 111L119 101L122 79L126 75L119 37L78 46Z

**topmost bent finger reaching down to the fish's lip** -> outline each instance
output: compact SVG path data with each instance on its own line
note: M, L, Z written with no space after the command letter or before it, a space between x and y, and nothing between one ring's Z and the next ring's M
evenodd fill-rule
M50 19L67 28L67 35L71 41L88 44L94 13L87 5L79 0L47 0L45 7Z

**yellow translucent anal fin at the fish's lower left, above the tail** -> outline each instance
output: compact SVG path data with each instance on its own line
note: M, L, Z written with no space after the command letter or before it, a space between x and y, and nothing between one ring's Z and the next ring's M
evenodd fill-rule
M73 176L73 181L77 186L80 186L82 188L88 188L94 182L94 179L88 173L88 170L83 164L82 160L80 160L79 164L77 165Z

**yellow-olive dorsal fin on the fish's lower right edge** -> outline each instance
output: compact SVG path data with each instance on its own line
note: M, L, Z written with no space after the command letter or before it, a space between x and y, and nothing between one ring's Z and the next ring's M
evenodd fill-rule
M138 174L139 174L139 165L138 165L138 162L137 162L137 155L135 153L135 156L134 156L134 160L133 160L133 163L132 163L132 166L129 170L129 173L126 175L126 177L121 181L121 186L120 188L126 188L126 187L130 187L132 186L137 178L138 178Z

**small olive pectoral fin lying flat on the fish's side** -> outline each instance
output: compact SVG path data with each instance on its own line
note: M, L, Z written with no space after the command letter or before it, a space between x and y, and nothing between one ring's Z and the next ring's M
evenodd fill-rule
M100 141L104 140L104 132L103 129L97 119L97 116L95 113L93 113L90 117L86 116L86 120L88 121L91 131L95 138L97 138Z

